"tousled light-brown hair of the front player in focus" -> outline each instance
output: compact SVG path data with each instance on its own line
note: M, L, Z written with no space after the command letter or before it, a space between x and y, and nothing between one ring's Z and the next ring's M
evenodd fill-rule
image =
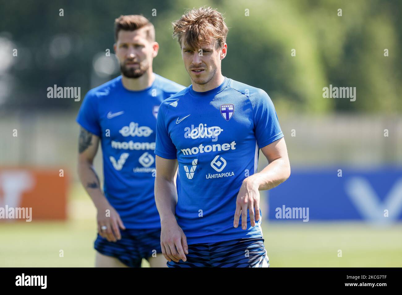
M211 7L193 8L172 22L172 25L173 37L177 38L180 47L184 37L185 46L193 49L197 48L200 41L208 41L211 37L222 48L229 31L222 14Z

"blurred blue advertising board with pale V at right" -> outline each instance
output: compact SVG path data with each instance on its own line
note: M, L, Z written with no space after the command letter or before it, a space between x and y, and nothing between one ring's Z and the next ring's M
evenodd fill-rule
M269 220L402 220L402 169L292 169L267 191Z

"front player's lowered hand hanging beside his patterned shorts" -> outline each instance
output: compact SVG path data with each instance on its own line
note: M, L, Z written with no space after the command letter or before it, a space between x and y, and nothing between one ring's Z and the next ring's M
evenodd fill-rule
M166 222L161 222L160 246L162 254L166 260L178 262L182 259L187 261L186 255L189 254L187 238L183 230L178 226L175 218Z

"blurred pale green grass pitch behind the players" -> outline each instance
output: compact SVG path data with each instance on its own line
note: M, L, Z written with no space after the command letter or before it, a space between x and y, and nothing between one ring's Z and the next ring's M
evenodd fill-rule
M95 210L79 185L70 195L68 222L0 223L0 267L93 267ZM262 227L271 267L402 267L402 224L266 221Z

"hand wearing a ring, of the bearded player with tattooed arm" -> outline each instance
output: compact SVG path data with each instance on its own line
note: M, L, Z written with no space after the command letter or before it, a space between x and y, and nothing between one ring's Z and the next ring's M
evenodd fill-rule
M106 210L110 210L110 216L109 214L106 216ZM104 205L98 208L97 220L98 232L101 237L106 238L109 242L117 242L117 240L121 240L119 227L122 230L125 230L125 226L115 208L111 205ZM102 227L105 226L106 230L103 230Z

